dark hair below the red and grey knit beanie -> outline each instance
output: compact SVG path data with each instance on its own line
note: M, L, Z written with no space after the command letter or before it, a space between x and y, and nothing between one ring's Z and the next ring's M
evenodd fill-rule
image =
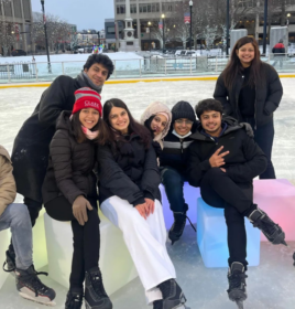
M78 113L75 113L72 118L72 130L73 134L77 140L77 142L81 143L85 140L87 140L87 137L85 136L83 129L81 129L81 122L79 119L80 110ZM95 142L99 145L105 145L110 137L108 126L106 122L99 118L98 122L95 125L95 127L91 129L91 131L98 131L98 136L94 139Z

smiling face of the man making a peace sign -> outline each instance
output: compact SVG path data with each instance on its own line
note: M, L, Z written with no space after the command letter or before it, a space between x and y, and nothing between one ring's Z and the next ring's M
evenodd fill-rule
M206 134L219 137L221 132L221 114L216 110L205 110L200 115L200 122Z

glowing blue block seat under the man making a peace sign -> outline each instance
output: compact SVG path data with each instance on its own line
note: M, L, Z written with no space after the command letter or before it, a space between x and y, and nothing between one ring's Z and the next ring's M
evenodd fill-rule
M260 263L260 230L244 219L247 231L247 260L249 266ZM227 224L223 209L215 209L197 201L197 243L206 267L228 267Z

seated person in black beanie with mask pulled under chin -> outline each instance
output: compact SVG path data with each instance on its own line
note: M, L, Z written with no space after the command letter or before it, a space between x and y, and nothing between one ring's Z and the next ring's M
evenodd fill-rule
M186 223L188 205L184 199L184 182L187 181L185 174L187 149L193 142L190 135L196 125L196 115L192 105L183 100L178 102L171 111L172 125L164 138L160 167L162 183L174 214L174 224L168 233L173 244L181 238Z

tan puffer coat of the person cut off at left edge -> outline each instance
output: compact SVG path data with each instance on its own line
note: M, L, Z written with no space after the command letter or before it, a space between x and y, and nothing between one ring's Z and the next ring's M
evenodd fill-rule
M12 163L6 148L0 145L0 216L17 196Z

